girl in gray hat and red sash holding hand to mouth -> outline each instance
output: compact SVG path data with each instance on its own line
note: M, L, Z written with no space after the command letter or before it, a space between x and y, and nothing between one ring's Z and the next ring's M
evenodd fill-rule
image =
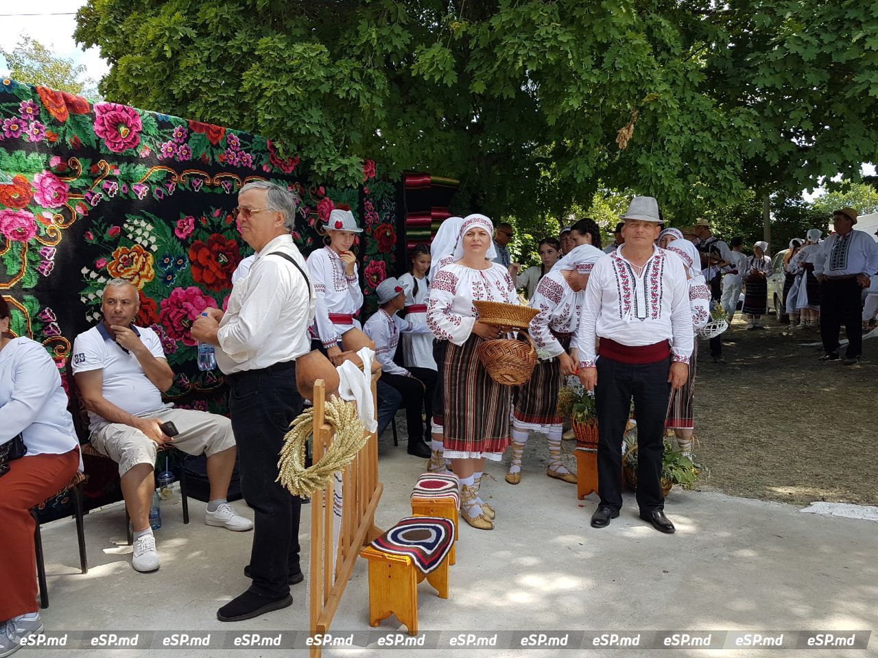
M356 255L350 248L356 233L363 229L356 225L351 211L336 208L323 230L327 232L329 244L314 251L307 260L317 297L311 335L320 340L327 356L335 363L342 354L339 347L342 334L354 327L360 328L354 314L363 306L363 290L356 273Z

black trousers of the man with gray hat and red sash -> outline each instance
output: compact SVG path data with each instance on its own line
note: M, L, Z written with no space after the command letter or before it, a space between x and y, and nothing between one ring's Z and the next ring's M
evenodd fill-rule
M637 505L640 511L662 510L661 462L665 416L671 384L671 361L631 364L605 356L597 361L594 401L598 412L598 488L601 505L622 507L622 438L634 399L637 416Z

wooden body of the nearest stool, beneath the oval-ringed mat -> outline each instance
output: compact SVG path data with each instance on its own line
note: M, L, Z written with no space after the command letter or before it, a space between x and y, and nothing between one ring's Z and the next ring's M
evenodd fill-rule
M440 598L448 598L448 559L425 575L406 555L382 553L369 546L360 556L369 561L369 625L372 627L396 615L409 635L417 635L418 583L424 578Z

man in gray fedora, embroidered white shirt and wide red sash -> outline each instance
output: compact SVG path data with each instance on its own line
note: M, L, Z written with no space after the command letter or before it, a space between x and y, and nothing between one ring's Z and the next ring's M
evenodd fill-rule
M625 242L594 265L576 333L579 379L594 390L601 503L592 526L609 525L622 507L622 436L634 400L640 518L673 533L661 492L665 417L671 390L686 383L693 349L683 261L655 246L659 204L634 197ZM600 347L595 344L600 340Z

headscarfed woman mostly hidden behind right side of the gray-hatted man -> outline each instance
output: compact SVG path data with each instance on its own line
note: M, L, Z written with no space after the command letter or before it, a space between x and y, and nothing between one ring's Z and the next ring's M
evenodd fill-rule
M698 248L689 240L680 238L677 229L665 229L659 233L659 243L664 244L667 251L676 254L686 268L689 287L689 308L692 311L692 331L698 333L710 320L710 288L704 281L701 270L701 257ZM671 391L667 404L665 426L673 429L677 446L683 454L692 454L692 436L695 427L693 397L695 393L695 365L698 355L698 339L695 336L692 356L689 357L689 374L686 384L680 389Z

